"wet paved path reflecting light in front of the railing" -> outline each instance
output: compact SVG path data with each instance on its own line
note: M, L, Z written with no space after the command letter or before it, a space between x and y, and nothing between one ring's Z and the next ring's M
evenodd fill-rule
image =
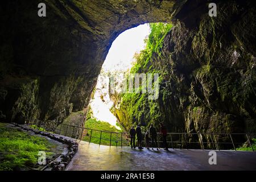
M81 141L66 170L256 170L256 152L216 152L217 165L209 165L209 151L132 150Z

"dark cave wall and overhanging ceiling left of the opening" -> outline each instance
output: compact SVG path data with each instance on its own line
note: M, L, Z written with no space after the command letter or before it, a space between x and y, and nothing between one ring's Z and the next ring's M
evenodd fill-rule
M46 17L38 4L46 4ZM168 21L183 1L6 1L0 19L0 115L58 119L88 106L113 40L141 23Z

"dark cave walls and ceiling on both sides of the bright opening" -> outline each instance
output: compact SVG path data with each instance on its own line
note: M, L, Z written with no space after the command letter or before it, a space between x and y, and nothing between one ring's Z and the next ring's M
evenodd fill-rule
M40 2L46 3L46 18L37 16ZM138 24L172 20L162 53L151 60L154 69L167 73L159 99L147 109L138 104L138 116L119 110L121 122L255 131L252 2L216 2L218 15L210 18L203 0L7 1L0 10L1 120L61 121L72 110L82 110L117 36Z

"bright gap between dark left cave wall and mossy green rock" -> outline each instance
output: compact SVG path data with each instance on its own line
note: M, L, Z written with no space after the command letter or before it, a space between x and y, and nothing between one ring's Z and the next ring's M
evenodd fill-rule
M90 115L86 122L88 125L92 124L89 125L93 127L92 129L98 129L96 125L93 125L93 122L97 120L109 123L109 126L115 127L117 131L123 130L117 117L110 111L114 103L109 95L109 78L114 75L115 80L123 81L123 76L130 72L135 63L135 55L146 47L150 32L148 23L140 24L119 34L112 43L89 102L88 113ZM85 126L88 126L86 122ZM105 130L109 129L105 128Z

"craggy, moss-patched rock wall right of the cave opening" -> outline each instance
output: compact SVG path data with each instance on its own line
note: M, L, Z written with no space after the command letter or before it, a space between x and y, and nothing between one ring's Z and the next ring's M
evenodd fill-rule
M198 24L175 22L137 69L160 73L158 100L112 95L115 115L126 129L164 122L170 132L255 133L254 35L255 9L245 3L219 3L217 17L204 14Z

